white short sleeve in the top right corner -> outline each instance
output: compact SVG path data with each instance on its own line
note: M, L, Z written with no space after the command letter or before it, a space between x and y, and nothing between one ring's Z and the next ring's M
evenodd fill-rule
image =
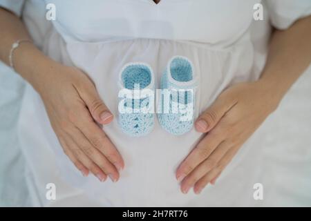
M272 26L281 30L311 15L311 0L266 0L265 3Z

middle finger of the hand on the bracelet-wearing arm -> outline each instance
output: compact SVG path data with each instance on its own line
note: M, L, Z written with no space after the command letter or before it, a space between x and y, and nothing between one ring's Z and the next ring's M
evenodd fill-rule
M97 164L106 175L109 175L113 182L119 180L119 173L115 166L113 166L113 164L111 164L111 162L109 162L109 160L107 160L107 158L89 142L87 137L79 131L79 128L73 128L71 136L73 140L75 140L77 146L79 146L79 149Z

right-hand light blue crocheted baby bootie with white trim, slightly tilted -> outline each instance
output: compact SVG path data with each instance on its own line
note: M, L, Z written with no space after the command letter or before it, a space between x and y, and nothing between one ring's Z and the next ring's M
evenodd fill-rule
M194 66L187 57L175 56L161 78L158 119L162 128L182 135L194 125L197 80Z

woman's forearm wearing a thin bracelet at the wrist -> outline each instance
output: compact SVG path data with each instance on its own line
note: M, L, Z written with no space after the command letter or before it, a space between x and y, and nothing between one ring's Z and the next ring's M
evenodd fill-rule
M0 59L9 65L12 44L19 39L31 39L23 22L11 12L0 8ZM39 90L49 70L57 66L56 62L46 57L35 45L24 42L13 54L15 70L32 86Z

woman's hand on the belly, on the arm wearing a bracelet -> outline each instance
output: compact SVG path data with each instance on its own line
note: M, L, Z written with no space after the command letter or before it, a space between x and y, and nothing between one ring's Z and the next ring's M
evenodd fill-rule
M91 171L101 182L107 175L116 182L124 162L100 128L113 115L91 79L77 68L62 65L45 76L39 94L64 153L84 176Z

